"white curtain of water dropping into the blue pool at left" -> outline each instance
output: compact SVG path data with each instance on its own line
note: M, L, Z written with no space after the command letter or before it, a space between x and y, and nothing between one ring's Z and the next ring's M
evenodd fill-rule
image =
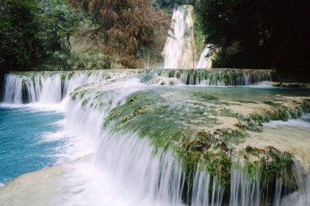
M4 80L4 103L60 103L66 96L87 83L103 78L101 71L29 72L7 74Z

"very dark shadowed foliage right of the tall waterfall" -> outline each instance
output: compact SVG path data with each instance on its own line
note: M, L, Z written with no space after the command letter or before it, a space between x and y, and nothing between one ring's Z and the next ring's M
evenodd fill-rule
M309 1L198 1L214 68L307 68Z

